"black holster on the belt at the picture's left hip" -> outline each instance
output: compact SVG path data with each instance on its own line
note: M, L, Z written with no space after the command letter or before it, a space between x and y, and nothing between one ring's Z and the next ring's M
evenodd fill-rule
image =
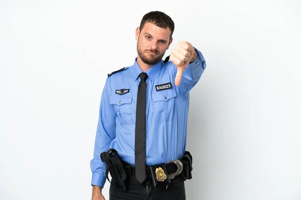
M109 182L113 184L115 187L121 188L122 190L126 190L126 178L127 175L125 173L123 164L118 156L118 152L110 148L108 151L104 151L100 154L101 161L107 164L106 168L106 178L109 180L108 173L114 181Z

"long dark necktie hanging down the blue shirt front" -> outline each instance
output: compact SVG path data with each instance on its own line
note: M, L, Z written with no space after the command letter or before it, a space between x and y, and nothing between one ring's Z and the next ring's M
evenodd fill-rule
M140 83L137 93L136 127L135 127L135 172L137 180L142 183L145 172L145 119L146 119L146 82L147 74L139 74Z

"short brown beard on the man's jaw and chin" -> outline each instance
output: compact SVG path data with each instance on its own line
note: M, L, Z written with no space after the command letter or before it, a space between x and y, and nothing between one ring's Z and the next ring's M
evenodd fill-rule
M143 50L141 48L139 48L138 43L139 43L139 40L137 41L137 52L138 52L139 57L145 64L151 64L151 65L156 64L157 62L159 62L162 59L162 57L165 54L166 49L162 53L160 53L158 50L150 50L150 49L148 49L148 50L145 49L143 52ZM157 54L149 54L146 51L155 52Z

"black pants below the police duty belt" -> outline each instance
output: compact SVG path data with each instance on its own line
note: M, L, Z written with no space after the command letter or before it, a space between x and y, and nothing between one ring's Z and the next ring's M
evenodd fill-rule
M114 180L112 180L114 182ZM153 186L152 179L147 178L142 184L135 177L129 177L127 190L123 191L110 185L109 200L185 200L185 185L180 176L171 179L166 186Z

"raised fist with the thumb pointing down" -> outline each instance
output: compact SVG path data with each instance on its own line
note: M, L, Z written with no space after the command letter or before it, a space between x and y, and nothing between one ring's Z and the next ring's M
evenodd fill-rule
M187 41L180 41L172 50L170 60L177 66L175 84L180 85L182 74L195 55L193 45Z

